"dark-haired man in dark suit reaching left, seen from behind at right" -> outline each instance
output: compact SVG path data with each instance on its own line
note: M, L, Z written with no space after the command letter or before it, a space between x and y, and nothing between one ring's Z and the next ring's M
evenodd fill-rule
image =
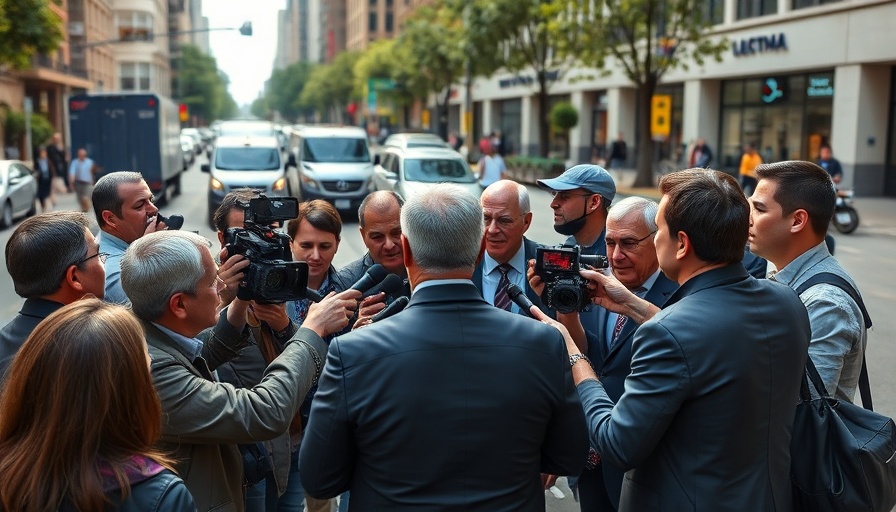
M731 176L688 169L664 176L660 189L657 257L681 285L663 309L583 271L595 303L642 324L615 403L567 339L591 445L628 470L620 511L789 511L805 308L741 264L749 207Z

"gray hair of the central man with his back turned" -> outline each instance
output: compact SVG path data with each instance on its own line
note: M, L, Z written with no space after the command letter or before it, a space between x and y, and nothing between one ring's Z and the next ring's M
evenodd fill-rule
M484 229L479 199L457 185L434 185L401 209L414 261L432 273L475 267Z

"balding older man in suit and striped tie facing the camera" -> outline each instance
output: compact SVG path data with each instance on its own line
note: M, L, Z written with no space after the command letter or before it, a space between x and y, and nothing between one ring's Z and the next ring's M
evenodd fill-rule
M493 306L521 313L507 293L507 287L515 284L533 304L548 312L526 280L527 262L535 258L539 246L525 237L532 224L529 191L515 181L496 181L482 191L479 204L485 221L485 253L473 272L473 283Z

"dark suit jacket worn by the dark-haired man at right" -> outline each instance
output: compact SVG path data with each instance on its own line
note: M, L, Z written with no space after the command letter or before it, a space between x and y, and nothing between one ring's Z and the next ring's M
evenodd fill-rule
M740 263L684 283L632 342L614 405L579 385L591 443L625 475L620 511L789 511L809 318Z

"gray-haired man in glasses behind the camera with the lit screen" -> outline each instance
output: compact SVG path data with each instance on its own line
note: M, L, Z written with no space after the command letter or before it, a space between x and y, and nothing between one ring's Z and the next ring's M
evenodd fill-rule
M607 215L606 241L616 279L639 297L661 306L678 284L660 271L653 242L657 209L656 202L635 196L614 204ZM532 275L540 289L541 280ZM577 314L558 314L557 319L588 355L607 395L615 402L625 391L625 378L631 372L632 339L639 324L625 315L603 308L595 310L598 328L590 332L582 329ZM616 510L624 474L611 462L601 461L592 450L576 482L582 512Z

